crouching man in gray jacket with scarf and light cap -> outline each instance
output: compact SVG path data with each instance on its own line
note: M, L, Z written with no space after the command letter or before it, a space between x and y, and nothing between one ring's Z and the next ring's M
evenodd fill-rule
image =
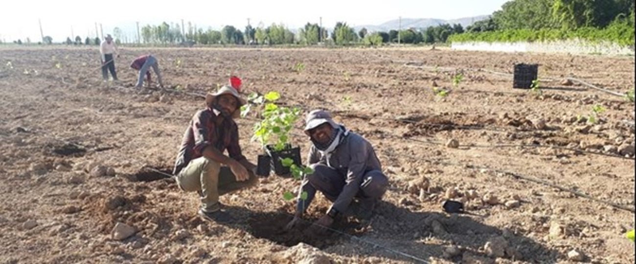
M315 225L331 226L352 202L359 203L354 214L370 219L375 205L389 186L373 146L361 135L334 122L327 111L311 111L306 123L305 134L312 141L308 166L314 169L314 173L303 179L301 193L307 192L307 198L303 200L299 196L296 215L287 224L287 230L300 221L316 191L333 204Z

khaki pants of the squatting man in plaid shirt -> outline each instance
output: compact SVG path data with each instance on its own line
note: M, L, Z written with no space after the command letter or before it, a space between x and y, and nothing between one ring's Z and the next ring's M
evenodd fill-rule
M247 181L237 181L229 167L205 158L195 158L188 163L179 175L177 184L184 191L200 191L202 208L206 212L221 209L219 196L232 193L243 188L256 186L258 177L249 171Z

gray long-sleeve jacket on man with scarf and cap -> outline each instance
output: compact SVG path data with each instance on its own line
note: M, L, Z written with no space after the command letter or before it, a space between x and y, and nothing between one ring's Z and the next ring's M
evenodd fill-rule
M345 186L331 205L338 212L345 212L353 198L356 197L363 182L365 172L370 170L382 170L371 143L361 135L349 132L338 147L327 157L323 156L314 145L311 146L308 155L308 165L322 163L337 170L345 178ZM313 189L313 190L312 190ZM303 201L298 200L297 209L304 211L314 198L315 189L306 180L303 181L301 191L307 191L308 197Z

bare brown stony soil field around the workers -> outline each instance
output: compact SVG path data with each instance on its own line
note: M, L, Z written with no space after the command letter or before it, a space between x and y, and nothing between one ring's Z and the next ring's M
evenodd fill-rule
M133 88L128 66L148 52L170 89ZM501 74L521 62L539 64L543 95ZM635 225L634 105L563 81L623 93L634 87L633 57L121 48L116 66L121 82L104 82L97 48L0 48L0 263L635 261L623 235ZM326 237L285 233L294 205L282 193L298 182L272 174L221 197L239 220L218 225L197 216L196 193L147 169L172 170L204 107L191 94L231 74L244 94L275 90L304 113L328 109L371 141L391 181L371 221L343 219ZM586 123L595 106L605 111ZM237 121L254 163L255 118ZM300 129L293 143L306 158ZM443 212L448 198L469 214ZM317 195L305 219L328 207ZM132 234L111 233L117 223Z

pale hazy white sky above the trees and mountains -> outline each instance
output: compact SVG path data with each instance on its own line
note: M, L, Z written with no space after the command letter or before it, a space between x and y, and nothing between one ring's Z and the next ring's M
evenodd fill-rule
M135 22L140 26L166 21L188 21L199 28L221 29L233 25L244 29L250 24L283 23L290 29L307 22L333 27L338 21L349 25L382 24L402 18L453 19L490 15L508 0L319 0L319 1L71 1L71 0L4 0L0 11L0 39L41 39L38 19L45 36L60 42L71 36L95 36L95 22L102 24L104 34L114 27L123 29L129 38L136 37ZM163 3L163 4L158 4ZM98 25L99 26L99 25ZM73 31L71 31L71 29Z

